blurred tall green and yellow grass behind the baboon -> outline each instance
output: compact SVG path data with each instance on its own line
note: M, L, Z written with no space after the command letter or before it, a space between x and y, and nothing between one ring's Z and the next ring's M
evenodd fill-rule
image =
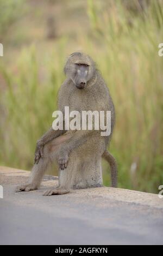
M0 31L3 22L9 26L15 19L10 2L16 1L6 2L9 9L0 15ZM118 187L157 193L163 184L163 58L158 56L163 40L162 1L60 2L47 1L49 10L42 1L42 10L29 8L30 14L16 23L12 38L7 36L4 57L0 58L0 164L31 168L36 140L53 121L65 58L82 50L97 62L114 99L116 127L110 152L118 161ZM43 15L48 11L52 15L53 8L60 5L63 16L57 16L57 38L48 40L40 31L45 28ZM66 25L60 27L64 19ZM22 24L28 26L31 20L33 34L22 29ZM76 26L75 33L68 31L68 22ZM42 28L36 28L37 23ZM17 35L21 35L21 49L11 45ZM103 169L104 184L109 186L107 163Z

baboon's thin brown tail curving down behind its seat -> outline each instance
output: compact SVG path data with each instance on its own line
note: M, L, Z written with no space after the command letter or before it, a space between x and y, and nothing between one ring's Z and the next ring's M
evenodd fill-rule
M102 154L102 157L110 164L111 170L111 187L117 187L117 163L116 159L109 153L109 151L105 150Z

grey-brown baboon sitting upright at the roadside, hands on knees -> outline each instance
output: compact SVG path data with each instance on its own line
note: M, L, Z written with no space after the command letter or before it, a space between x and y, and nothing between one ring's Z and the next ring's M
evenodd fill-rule
M111 111L111 134L101 136L101 130L49 129L37 141L35 163L26 184L16 192L39 188L43 175L54 160L59 169L59 186L43 195L66 194L71 189L103 186L102 157L110 164L112 187L117 186L117 165L107 151L115 123L115 109L108 87L96 69L92 58L82 52L72 53L65 64L66 80L58 93L58 109L70 111ZM65 126L64 126L65 127Z

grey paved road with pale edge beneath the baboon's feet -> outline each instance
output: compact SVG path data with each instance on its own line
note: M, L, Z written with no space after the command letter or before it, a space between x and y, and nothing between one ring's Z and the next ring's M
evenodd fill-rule
M1 245L163 244L163 201L155 195L135 192L134 202L130 190L96 188L42 197L46 182L40 190L14 193L15 181L3 184ZM147 204L136 200L146 195Z

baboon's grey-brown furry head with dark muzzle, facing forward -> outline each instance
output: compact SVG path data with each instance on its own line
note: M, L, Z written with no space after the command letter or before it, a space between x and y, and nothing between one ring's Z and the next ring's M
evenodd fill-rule
M74 85L82 90L95 72L95 64L92 59L84 53L72 53L65 66L65 73Z

